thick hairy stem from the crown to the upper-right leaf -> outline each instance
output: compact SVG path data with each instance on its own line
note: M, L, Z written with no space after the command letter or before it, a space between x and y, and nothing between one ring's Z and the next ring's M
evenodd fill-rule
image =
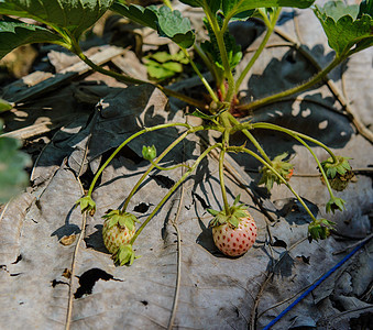
M239 110L253 110L266 105L271 105L276 102L277 100L281 100L283 98L286 98L293 94L298 94L301 91L305 91L307 89L309 89L310 87L312 87L315 84L319 82L320 80L322 80L336 66L338 66L342 61L344 61L345 57L336 57L325 69L320 70L317 75L315 75L311 79L309 79L308 81L293 87L288 90L265 97L263 99L253 101L249 105L243 105L243 106L239 106L237 107L237 109Z

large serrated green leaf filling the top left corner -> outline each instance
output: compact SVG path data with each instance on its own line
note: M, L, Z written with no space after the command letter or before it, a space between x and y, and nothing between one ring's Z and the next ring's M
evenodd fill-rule
M0 14L34 19L65 29L76 38L110 8L113 0L0 0Z

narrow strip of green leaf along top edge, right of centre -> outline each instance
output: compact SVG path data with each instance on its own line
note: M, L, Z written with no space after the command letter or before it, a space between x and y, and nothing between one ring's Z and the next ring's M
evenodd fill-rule
M314 2L315 0L229 0L222 1L221 10L226 16L235 16L256 8L294 7L304 9Z

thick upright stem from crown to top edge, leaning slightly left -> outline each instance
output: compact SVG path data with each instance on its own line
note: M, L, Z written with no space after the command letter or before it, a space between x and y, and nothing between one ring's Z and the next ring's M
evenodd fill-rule
M224 45L223 33L221 33L217 18L211 12L209 6L206 3L206 0L204 0L204 9L205 9L206 16L207 16L207 19L208 19L208 21L211 25L211 29L215 33L215 36L217 37L222 66L224 68L224 75L228 78L228 91L227 91L226 100L231 101L231 99L233 98L235 87L234 87L233 74L232 74L231 67L229 65L227 48L226 48L226 45Z

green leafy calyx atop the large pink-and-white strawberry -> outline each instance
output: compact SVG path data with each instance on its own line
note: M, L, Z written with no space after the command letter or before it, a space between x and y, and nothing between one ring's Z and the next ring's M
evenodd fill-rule
M240 195L234 199L234 202L229 208L228 212L226 209L221 211L207 209L207 211L213 216L213 219L209 223L209 228L219 227L224 223L228 223L232 228L238 228L240 224L240 219L248 217L246 206L243 204L238 205Z

